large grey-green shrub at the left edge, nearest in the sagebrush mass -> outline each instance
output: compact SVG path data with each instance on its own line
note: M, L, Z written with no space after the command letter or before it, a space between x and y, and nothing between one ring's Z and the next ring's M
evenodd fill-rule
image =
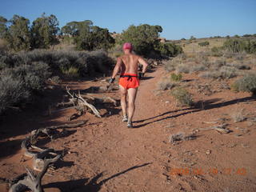
M34 93L42 91L49 77L49 66L44 62L33 62L1 71L0 113L6 108L26 103Z

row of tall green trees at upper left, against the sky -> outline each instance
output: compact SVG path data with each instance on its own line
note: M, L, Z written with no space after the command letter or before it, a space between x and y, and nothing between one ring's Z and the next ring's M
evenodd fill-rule
M11 50L49 49L63 42L74 42L78 50L108 50L114 46L109 30L93 26L90 20L68 22L58 35L58 18L54 14L30 20L14 14L9 21L0 16L0 38L8 42Z

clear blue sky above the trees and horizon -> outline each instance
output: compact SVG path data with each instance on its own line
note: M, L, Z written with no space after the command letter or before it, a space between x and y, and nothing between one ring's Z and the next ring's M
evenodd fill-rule
M32 23L54 14L59 26L91 20L122 33L130 25L162 26L167 39L256 34L256 0L0 0L0 15L18 14Z

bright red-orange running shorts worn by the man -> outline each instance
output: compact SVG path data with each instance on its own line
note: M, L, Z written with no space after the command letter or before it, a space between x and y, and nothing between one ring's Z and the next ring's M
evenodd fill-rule
M129 77L122 77L129 76ZM119 79L119 85L128 90L129 88L137 88L139 86L139 80L137 74L121 74Z

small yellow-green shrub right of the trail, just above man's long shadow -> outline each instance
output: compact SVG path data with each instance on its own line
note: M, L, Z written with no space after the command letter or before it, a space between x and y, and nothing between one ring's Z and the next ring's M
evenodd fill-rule
M176 87L171 90L171 95L176 98L182 106L192 106L193 104L191 94L182 87Z

